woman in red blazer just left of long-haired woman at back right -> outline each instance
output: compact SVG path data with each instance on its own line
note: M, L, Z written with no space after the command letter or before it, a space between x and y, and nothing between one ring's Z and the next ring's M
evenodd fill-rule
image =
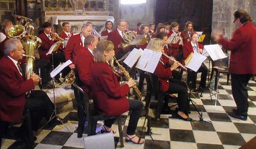
M170 37L173 33L177 33L179 30L179 24L177 22L172 22L171 24L171 28L172 30L168 33L168 37ZM178 35L179 36L179 35ZM178 41L177 44L171 44L170 45L170 49L172 51L172 56L175 58L178 54L178 50L180 48L180 46L183 46L183 41L182 38L181 40Z

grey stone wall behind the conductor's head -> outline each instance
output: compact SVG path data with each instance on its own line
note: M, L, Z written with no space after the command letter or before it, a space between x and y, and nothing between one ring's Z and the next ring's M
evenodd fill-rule
M233 23L236 10L245 10L252 16L254 25L256 20L256 0L213 0L212 29L221 28L227 38L238 26Z

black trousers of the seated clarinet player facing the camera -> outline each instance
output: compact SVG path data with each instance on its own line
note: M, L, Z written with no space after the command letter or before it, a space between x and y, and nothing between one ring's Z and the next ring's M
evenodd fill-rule
M191 88L192 89L196 88L196 76L197 76L198 72L202 72L199 87L206 88L206 78L207 78L207 74L208 74L208 68L204 64L202 64L197 72L188 71L187 83L189 84L189 82L191 80L191 82L192 82Z

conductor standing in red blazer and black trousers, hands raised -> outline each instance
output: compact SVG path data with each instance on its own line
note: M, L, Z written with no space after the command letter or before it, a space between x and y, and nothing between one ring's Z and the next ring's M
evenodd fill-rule
M231 117L246 120L248 111L247 84L252 74L256 74L256 27L251 16L244 10L234 13L234 23L239 27L232 38L227 41L220 34L214 40L225 49L230 50L229 72L231 73L232 95L237 109L228 113Z

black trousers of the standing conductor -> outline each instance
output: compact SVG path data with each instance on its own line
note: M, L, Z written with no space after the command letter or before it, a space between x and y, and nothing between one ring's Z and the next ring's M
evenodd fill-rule
M252 74L231 74L232 95L236 102L237 111L240 115L247 115L248 111L248 90L246 86Z

